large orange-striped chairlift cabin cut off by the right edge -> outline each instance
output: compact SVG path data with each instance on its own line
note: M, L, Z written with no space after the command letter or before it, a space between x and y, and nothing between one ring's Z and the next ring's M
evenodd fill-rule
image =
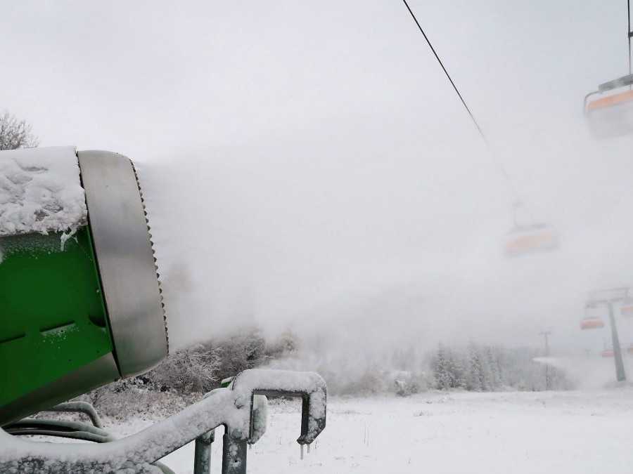
M598 86L584 97L584 116L596 138L633 133L633 74ZM594 98L594 96L599 96Z

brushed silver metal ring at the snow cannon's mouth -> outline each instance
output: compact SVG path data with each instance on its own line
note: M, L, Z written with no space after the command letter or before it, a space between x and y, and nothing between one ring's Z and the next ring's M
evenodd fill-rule
M143 198L121 154L77 152L117 367L122 377L168 352L167 326Z

